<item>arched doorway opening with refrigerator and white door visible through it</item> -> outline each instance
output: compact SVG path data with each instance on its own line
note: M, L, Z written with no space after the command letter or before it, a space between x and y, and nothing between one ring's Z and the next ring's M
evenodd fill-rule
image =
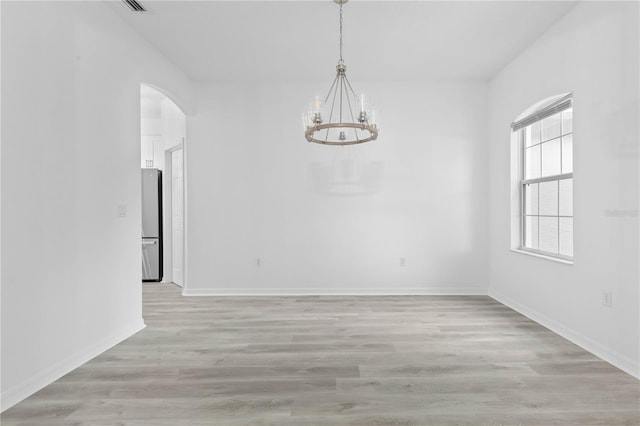
M143 281L174 283L180 287L186 284L185 153L185 114L162 91L142 84L140 166L143 179ZM157 190L149 180L158 182ZM157 229L158 236L153 240L153 235L149 235L149 232L145 234L145 224L155 225L156 220L157 226L151 228L154 231Z

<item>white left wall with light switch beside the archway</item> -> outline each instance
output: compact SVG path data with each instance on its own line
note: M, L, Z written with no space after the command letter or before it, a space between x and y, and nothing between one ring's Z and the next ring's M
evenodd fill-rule
M104 4L2 2L2 409L143 327L141 82L189 103Z

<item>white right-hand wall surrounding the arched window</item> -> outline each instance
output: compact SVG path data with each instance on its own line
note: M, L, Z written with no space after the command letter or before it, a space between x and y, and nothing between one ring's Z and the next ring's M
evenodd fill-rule
M638 3L585 2L490 84L490 295L638 376ZM574 254L509 251L509 125L574 94ZM617 212L617 213L616 213ZM613 213L613 214L612 214ZM613 307L601 304L613 292Z

